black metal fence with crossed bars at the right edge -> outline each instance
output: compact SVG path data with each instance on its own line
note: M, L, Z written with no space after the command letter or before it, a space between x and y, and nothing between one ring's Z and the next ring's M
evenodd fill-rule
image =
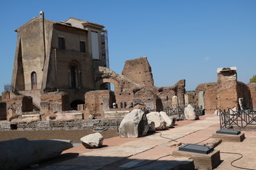
M234 111L231 108L228 108L228 111L220 110L220 129L228 128L231 125L238 128L256 125L256 111L252 109Z

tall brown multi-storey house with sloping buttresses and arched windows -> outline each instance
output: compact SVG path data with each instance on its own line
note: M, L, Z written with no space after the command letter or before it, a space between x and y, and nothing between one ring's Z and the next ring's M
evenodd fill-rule
M96 85L97 67L108 67L107 31L104 26L76 18L50 21L34 17L16 29L17 44L11 85L33 97L40 108L41 95L68 93L71 107L85 100Z

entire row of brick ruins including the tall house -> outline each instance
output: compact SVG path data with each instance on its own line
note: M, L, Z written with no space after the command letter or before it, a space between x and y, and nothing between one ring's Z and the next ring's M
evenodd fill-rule
M41 11L16 29L12 88L2 93L0 120L122 119L136 108L176 113L182 119L188 104L205 113L255 109L256 85L237 81L235 67L218 69L218 82L187 92L184 79L174 86L154 86L146 57L127 60L122 74L115 73L108 68L103 28L76 18L46 20Z

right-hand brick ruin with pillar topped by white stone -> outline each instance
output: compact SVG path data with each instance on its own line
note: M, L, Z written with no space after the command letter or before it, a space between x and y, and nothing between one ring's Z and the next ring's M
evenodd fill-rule
M199 84L196 87L198 104L203 106L205 113L228 108L235 110L252 108L252 101L256 100L253 96L254 92L246 84L237 81L236 67L220 68L217 74L217 83ZM242 106L238 102L240 98L242 98Z

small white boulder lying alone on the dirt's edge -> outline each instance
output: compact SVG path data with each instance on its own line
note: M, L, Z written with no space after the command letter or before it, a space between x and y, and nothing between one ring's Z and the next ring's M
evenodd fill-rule
M101 147L103 143L103 137L99 132L81 137L80 140L86 148Z

